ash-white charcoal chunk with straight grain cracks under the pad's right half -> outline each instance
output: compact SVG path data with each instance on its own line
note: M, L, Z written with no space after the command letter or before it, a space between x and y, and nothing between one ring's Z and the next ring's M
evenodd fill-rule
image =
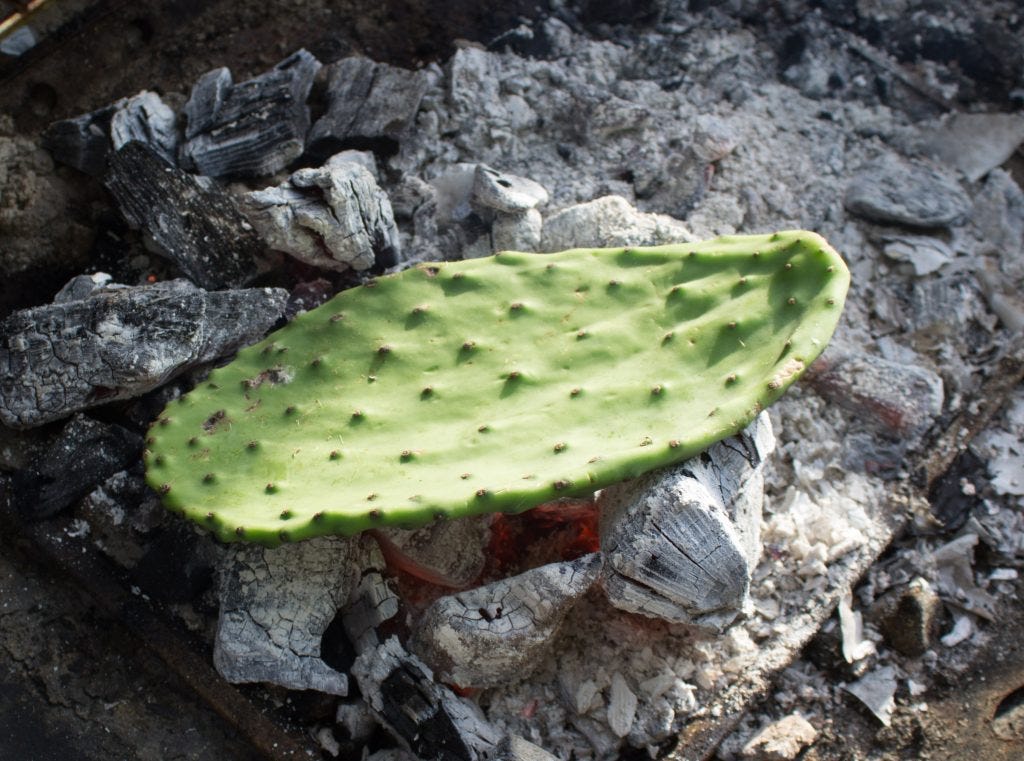
M746 606L760 556L766 413L678 465L604 490L603 583L615 607L713 630Z

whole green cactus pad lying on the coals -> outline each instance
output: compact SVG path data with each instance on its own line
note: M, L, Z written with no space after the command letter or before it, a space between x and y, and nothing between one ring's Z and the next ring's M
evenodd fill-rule
M590 493L748 425L824 348L848 285L804 231L420 264L171 403L147 479L265 545Z

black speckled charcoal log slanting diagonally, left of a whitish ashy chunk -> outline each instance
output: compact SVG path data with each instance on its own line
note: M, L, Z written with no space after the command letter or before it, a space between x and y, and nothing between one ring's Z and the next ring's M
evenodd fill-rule
M256 277L263 244L227 193L141 142L119 149L110 164L104 182L125 219L197 285L237 288Z

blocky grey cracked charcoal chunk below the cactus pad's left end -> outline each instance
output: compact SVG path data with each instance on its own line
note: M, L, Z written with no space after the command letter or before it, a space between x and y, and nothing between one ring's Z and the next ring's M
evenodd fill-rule
M359 568L356 540L318 537L275 549L233 545L221 568L213 663L227 681L348 694L321 659L321 640Z

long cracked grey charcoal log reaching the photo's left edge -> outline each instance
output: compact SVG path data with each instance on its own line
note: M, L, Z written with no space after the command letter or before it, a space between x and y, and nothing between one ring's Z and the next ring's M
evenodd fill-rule
M156 388L260 338L288 292L207 292L184 280L111 286L0 323L0 421L31 428Z

